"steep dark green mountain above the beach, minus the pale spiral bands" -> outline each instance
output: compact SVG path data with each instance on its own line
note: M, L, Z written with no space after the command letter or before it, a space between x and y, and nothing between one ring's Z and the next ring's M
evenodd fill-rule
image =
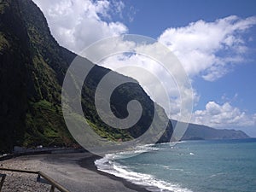
M90 29L88 29L90 30ZM0 152L11 151L15 145L24 147L77 145L67 130L61 111L61 85L67 68L76 57L61 47L49 32L43 13L31 0L2 0L0 2ZM81 58L84 65L93 65ZM134 83L114 90L111 109L119 118L128 113L126 104L137 99L143 115L127 130L106 125L96 112L94 96L102 77L110 70L95 66L84 81L82 108L94 131L112 141L128 141L148 130L154 117L166 118L164 109L145 93L134 80L119 73L117 79ZM172 123L159 142L172 136Z

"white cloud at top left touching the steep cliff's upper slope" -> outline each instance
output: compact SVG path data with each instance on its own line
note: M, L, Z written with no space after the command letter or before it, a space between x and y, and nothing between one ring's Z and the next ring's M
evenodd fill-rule
M120 22L111 20L111 13L121 13L124 3L107 0L33 0L43 10L49 28L58 43L79 53L90 44L128 32Z

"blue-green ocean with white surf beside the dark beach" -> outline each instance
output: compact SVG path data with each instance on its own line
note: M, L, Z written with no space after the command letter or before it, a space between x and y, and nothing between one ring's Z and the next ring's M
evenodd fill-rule
M256 191L255 138L146 145L95 164L150 191Z

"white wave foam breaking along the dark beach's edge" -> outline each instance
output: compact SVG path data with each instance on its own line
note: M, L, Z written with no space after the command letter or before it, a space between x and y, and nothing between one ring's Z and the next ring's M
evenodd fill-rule
M113 174L117 177L125 178L131 183L143 185L149 191L174 191L174 192L192 192L189 189L180 187L178 184L168 183L166 181L155 178L152 175L133 172L127 166L122 166L114 161L120 159L122 155L128 155L131 152L122 152L119 154L106 154L100 160L95 161L97 169L102 172ZM133 151L136 153L136 151Z

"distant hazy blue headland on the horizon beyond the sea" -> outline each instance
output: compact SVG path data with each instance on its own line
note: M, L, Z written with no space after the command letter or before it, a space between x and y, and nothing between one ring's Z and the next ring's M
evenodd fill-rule
M177 121L172 120L175 127ZM243 139L249 138L243 131L214 129L205 125L189 124L182 140L213 140L213 139Z

